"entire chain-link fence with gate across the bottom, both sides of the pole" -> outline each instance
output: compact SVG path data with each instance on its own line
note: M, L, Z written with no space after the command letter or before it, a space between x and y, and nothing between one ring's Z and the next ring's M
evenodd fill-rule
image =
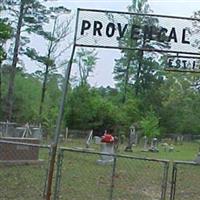
M0 140L1 200L45 198L51 148L33 141ZM102 156L112 162L99 162ZM200 199L195 162L175 161L169 169L167 160L58 148L56 165L53 200Z

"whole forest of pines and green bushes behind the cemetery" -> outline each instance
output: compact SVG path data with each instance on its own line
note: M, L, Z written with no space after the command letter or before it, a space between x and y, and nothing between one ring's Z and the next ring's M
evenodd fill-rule
M146 0L133 1L127 11L151 13ZM0 12L0 121L42 124L51 135L62 94L64 73L60 70L68 63L63 55L71 47L66 41L73 34L74 16L68 8L45 6L39 0L3 0ZM199 14L194 12L194 17ZM44 51L34 46L34 37L45 41ZM38 69L34 73L26 70L30 66L24 62L25 56L34 61ZM70 79L63 127L114 128L127 134L134 123L149 137L200 133L199 74L169 73L162 60L145 57L141 51L123 50L113 66L115 86L97 87L88 79L98 59L96 49L76 51L78 73Z

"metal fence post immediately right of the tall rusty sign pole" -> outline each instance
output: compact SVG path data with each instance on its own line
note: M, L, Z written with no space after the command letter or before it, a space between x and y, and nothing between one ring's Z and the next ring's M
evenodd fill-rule
M61 173L62 173L62 163L63 163L63 150L59 149L58 157L57 157L57 167L56 167L56 177L55 177L55 188L54 188L54 196L53 200L59 199L59 193L60 193L60 183L61 183Z

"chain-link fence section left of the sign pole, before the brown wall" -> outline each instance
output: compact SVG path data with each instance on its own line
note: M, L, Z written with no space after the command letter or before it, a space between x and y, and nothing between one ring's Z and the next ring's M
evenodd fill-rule
M0 140L0 199L43 199L50 147Z

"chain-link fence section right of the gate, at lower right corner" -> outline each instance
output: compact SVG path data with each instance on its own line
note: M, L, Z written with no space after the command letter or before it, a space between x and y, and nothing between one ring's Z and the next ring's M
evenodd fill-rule
M199 177L200 166L197 163L174 162L170 200L199 200Z

